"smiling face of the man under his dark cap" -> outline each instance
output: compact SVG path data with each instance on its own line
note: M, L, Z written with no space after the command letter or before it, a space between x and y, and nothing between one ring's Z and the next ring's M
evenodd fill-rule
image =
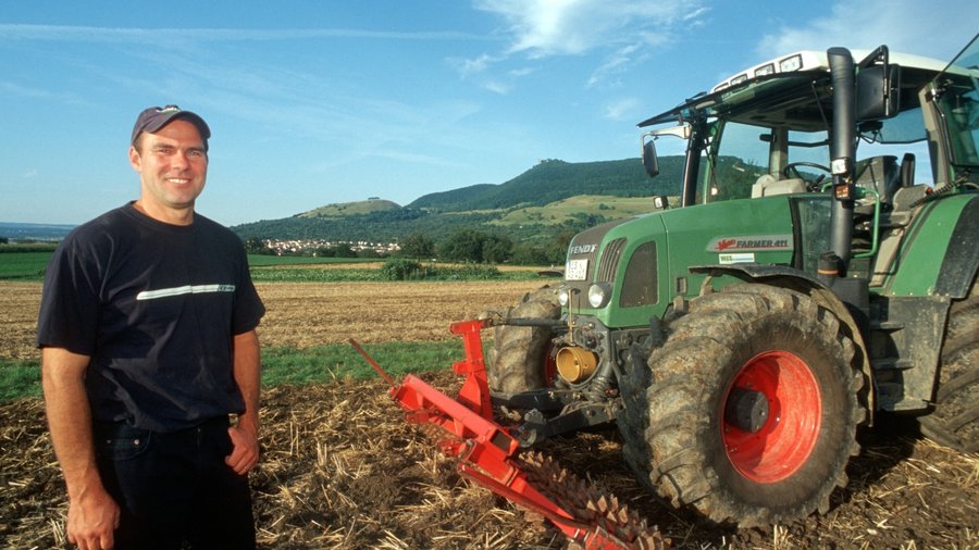
M129 164L139 173L139 205L151 217L168 221L193 212L208 177L208 154L197 127L176 120L156 134L144 133L129 148Z

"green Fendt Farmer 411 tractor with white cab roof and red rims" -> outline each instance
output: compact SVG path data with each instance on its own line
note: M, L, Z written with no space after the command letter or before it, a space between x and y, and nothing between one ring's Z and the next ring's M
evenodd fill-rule
M615 424L654 492L742 526L826 512L879 412L979 449L977 67L800 52L641 123L653 176L684 142L674 192L494 323L521 442Z

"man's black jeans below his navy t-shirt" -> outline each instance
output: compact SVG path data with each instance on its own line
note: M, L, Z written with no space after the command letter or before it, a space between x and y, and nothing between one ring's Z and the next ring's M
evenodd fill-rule
M218 418L161 434L96 424L102 483L122 509L116 550L255 548L248 477L224 463L227 426Z

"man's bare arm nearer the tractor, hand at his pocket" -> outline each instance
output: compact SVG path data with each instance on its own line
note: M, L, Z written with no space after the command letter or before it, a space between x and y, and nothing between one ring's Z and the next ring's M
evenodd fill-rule
M258 463L259 446L259 392L261 389L261 352L258 333L253 329L235 335L235 383L245 398L245 412L238 415L238 424L228 428L234 449L225 462L238 475L247 474Z

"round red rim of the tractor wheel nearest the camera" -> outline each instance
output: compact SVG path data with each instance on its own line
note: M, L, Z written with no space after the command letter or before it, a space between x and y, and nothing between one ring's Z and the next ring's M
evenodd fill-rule
M723 421L721 414L724 451L731 464L761 484L794 474L811 454L822 425L819 385L808 365L788 351L768 351L744 365L722 407L734 388L761 392L768 400L768 418L758 432L751 433Z

